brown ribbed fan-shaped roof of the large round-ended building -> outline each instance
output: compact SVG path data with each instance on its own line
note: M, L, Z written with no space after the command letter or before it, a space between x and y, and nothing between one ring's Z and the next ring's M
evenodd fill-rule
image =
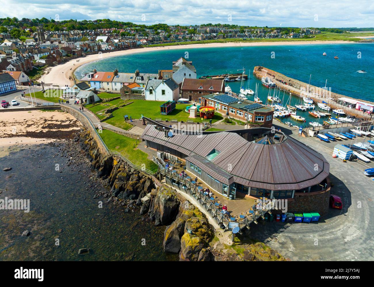
M329 175L327 160L291 137L284 136L283 141L276 144L249 142L233 131L204 132L199 136L177 132L167 138L154 127L159 123L148 121L153 124L145 127L142 139L185 154L187 160L226 184L236 182L269 190L298 190L319 184ZM257 129L251 130L255 133ZM212 149L220 153L209 161L206 156ZM317 170L315 164L318 164Z

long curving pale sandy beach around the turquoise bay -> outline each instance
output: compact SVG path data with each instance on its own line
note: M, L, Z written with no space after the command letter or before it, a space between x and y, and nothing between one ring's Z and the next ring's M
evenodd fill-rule
M235 46L279 46L279 45L316 45L316 44L344 44L352 43L349 41L279 41L279 42L254 42L254 43L209 43L209 44L191 44L191 45L180 45L180 46L163 46L163 47L148 47L148 48L139 48L139 49L130 49L130 50L121 50L111 53L102 53L89 55L85 58L77 58L79 62L75 59L66 62L61 65L52 67L45 75L44 81L46 84L54 84L58 86L73 86L74 81L69 80L69 76L74 72L74 70L81 65L87 64L89 62L115 57L122 55L129 55L135 53L144 53L160 50L176 50L176 49L194 49L194 48L219 48L219 47L235 47ZM74 65L75 64L75 65ZM71 69L71 70L70 70ZM41 81L42 78L39 79Z

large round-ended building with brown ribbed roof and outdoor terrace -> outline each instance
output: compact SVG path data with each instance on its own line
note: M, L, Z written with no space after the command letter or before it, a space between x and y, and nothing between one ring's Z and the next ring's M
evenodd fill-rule
M194 134L146 120L145 145L178 157L213 192L233 200L283 199L291 212L327 213L328 161L283 132L260 127Z

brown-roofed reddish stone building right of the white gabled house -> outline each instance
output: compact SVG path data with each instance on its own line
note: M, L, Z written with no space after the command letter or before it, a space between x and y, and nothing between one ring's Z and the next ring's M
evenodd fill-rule
M198 101L204 95L224 92L224 80L184 78L181 84L181 97L190 101Z

